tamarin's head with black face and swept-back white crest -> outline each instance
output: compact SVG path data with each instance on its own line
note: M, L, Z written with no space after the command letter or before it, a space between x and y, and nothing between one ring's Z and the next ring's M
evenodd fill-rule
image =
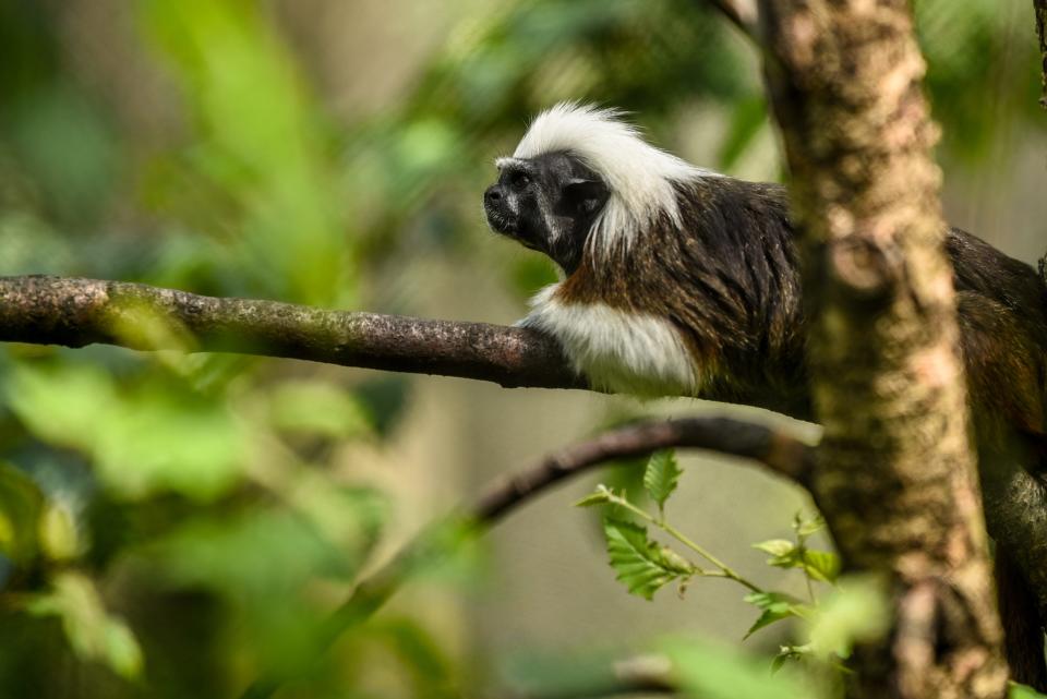
M658 221L681 224L677 186L707 171L646 143L614 109L563 103L540 113L483 206L495 231L539 250L568 275L599 264Z

